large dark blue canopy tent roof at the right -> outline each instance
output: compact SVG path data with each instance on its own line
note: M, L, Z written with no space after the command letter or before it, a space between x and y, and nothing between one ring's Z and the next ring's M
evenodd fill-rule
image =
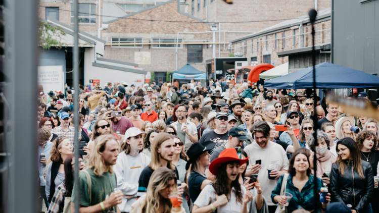
M324 62L315 66L316 88L367 88L379 87L379 77ZM265 88L306 89L313 88L313 67L264 82Z

